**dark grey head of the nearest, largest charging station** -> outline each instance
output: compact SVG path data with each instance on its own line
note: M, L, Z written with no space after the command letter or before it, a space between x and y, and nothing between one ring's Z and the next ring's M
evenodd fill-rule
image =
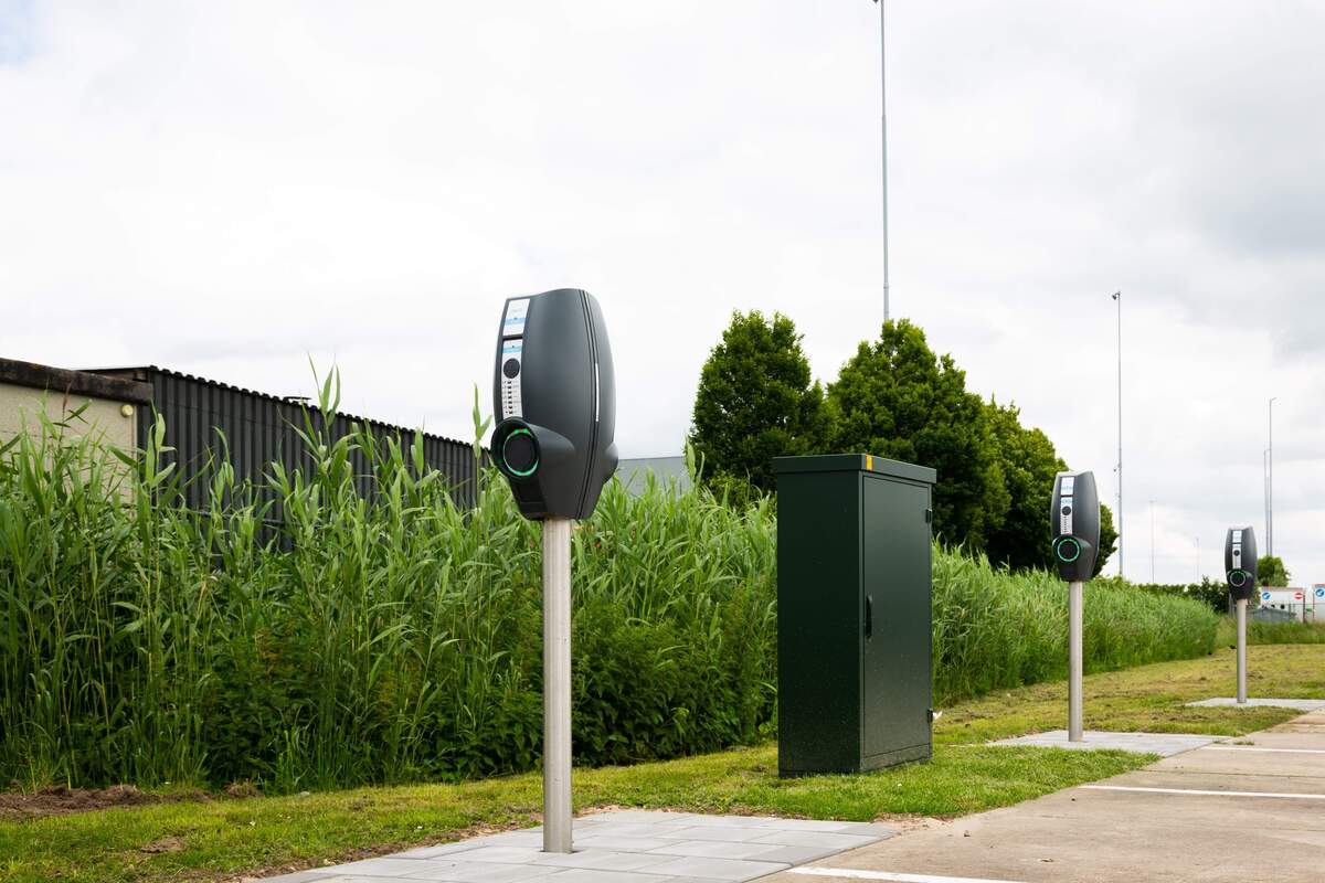
M588 518L616 471L616 377L588 291L510 298L493 372L492 457L530 519Z

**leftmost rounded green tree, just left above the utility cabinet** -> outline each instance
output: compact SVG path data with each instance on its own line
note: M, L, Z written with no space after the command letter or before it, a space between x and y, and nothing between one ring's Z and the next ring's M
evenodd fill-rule
M772 458L824 449L829 416L787 316L733 312L709 353L694 398L690 445L704 473L774 490Z

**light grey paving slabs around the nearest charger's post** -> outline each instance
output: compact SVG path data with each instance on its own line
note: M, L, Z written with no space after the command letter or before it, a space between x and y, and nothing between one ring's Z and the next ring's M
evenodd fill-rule
M269 883L739 883L877 843L897 831L865 822L767 815L616 812L575 819L575 853L542 851L542 829L270 878Z

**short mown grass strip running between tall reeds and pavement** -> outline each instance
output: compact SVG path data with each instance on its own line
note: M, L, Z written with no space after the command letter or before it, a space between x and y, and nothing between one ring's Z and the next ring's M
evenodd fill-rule
M1325 645L1251 647L1253 696L1325 698ZM1234 658L1169 662L1086 678L1086 727L1243 735L1296 715L1185 708L1232 695ZM1121 752L988 748L987 739L1064 725L1065 683L962 703L935 724L926 764L865 776L779 780L776 747L575 774L579 809L627 805L872 819L953 817L1145 765ZM0 819L0 880L232 880L537 822L538 774L293 797L219 798Z

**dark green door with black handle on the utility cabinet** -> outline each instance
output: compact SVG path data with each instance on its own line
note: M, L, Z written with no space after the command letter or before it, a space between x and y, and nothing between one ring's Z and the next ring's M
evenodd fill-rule
M861 702L871 757L930 740L930 498L924 486L861 481Z

